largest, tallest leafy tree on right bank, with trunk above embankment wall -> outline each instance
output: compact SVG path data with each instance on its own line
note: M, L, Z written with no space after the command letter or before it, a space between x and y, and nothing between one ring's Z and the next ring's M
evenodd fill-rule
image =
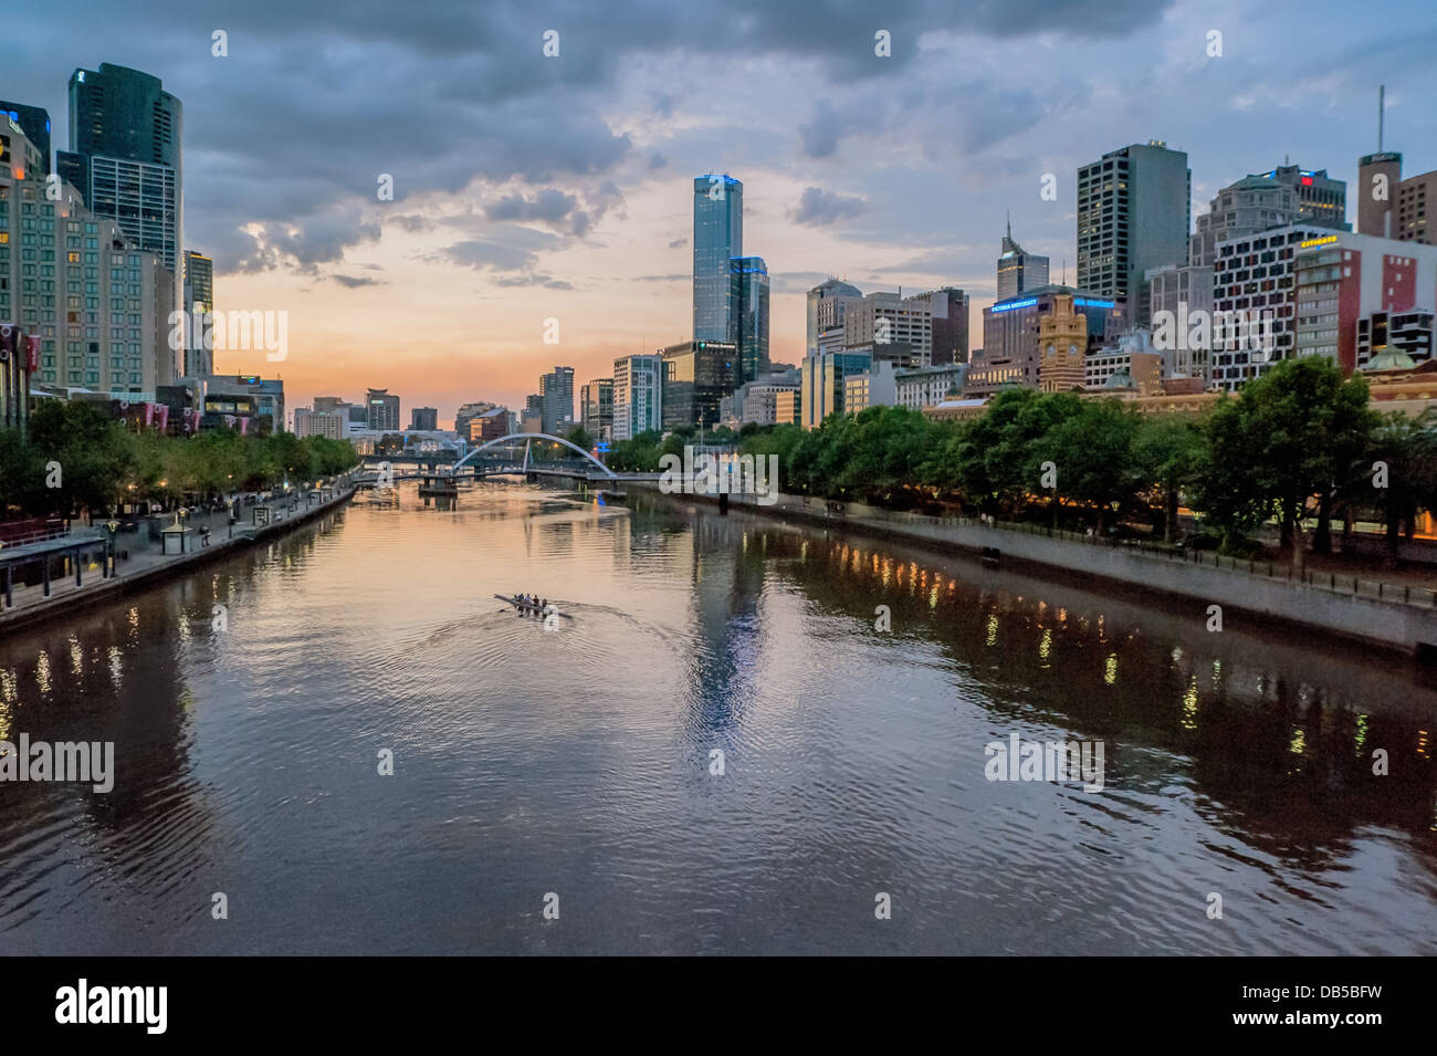
M1300 573L1308 504L1367 448L1377 424L1367 402L1364 378L1344 379L1319 356L1285 359L1220 401L1207 421L1201 484L1214 522L1234 532L1276 514Z

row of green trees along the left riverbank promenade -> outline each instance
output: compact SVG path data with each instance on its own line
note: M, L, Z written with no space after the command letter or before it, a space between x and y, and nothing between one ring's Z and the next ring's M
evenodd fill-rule
M233 430L184 440L129 432L82 402L45 401L26 437L0 431L0 510L6 516L101 514L122 503L165 509L280 481L305 483L356 466L354 447L292 432Z

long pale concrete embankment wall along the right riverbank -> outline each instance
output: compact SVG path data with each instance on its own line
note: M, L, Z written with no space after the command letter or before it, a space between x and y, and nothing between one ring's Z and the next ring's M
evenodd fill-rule
M625 481L625 487L661 494L658 486L648 481ZM717 496L704 494L668 497L685 503L717 504L718 501ZM1213 563L1211 555L1203 555L1203 562L1194 563L1193 559L1177 555L1163 556L1137 547L1112 546L1106 540L1050 537L1042 532L987 527L963 517L895 513L861 503L828 503L823 499L803 496L779 496L777 501L769 506L756 503L753 496L730 496L729 501L746 513L877 537L917 540L969 555L997 552L999 560L1004 565L1059 569L1079 578L1183 598L1184 603L1196 603L1194 619L1200 621L1207 619L1209 605L1221 605L1224 612L1230 608L1267 621L1315 628L1336 638L1378 645L1407 655L1427 658L1437 652L1437 606L1431 603L1433 596L1428 590L1421 590L1421 601L1417 599L1417 592L1413 592L1410 602L1401 598L1395 601L1369 598L1329 589L1325 583L1302 583L1280 575L1262 575L1263 562L1255 563L1255 572L1249 572L1246 562L1236 562L1232 568L1219 566Z

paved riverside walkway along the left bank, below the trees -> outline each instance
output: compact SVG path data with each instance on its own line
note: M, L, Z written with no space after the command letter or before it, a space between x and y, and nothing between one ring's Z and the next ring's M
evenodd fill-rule
M155 582L221 553L233 553L339 509L354 493L352 474L345 474L312 491L290 491L241 506L236 524L230 524L228 509L178 519L178 526L185 530L185 549L180 553L165 553L162 539L151 539L144 532L126 532L111 539L103 522L76 527L68 536L0 549L0 628L49 619L79 605L115 598L139 583ZM164 517L175 520L174 514ZM165 527L174 524L167 523ZM106 569L111 552L114 570ZM33 585L13 579L13 572L9 578L4 575L7 568L34 568L39 559L63 559L60 575L52 576L49 583ZM7 579L11 579L9 589Z

